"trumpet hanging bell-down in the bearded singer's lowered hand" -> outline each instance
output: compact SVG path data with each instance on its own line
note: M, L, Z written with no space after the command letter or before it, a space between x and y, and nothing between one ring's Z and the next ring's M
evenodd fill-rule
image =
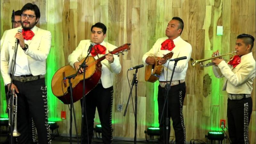
M14 128L12 131L12 135L14 137L18 137L20 136L20 132L18 132L17 130L17 110L18 110L18 97L15 94L15 89L12 89L12 97L10 97L10 99L12 99L12 106L10 105L10 100L8 102L8 109L9 109L9 126L11 126L11 123L14 123ZM15 105L14 105L14 100L15 100ZM12 107L12 110L11 110ZM11 112L12 111L12 112ZM12 121L10 119L10 117L12 116ZM13 120L14 117L14 120Z

